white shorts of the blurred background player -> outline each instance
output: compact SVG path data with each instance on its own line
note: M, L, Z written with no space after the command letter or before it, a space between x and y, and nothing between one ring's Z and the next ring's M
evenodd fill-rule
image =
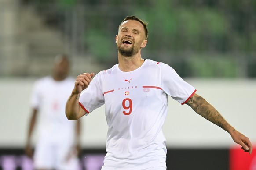
M79 159L68 144L38 142L34 153L36 169L78 170Z

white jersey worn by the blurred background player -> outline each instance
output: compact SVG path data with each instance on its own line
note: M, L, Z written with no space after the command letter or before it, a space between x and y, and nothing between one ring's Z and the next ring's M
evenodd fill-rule
M73 87L73 78L55 81L48 76L36 81L31 105L39 110L38 134L39 140L62 143L72 141L75 131L75 121L66 118L65 105Z

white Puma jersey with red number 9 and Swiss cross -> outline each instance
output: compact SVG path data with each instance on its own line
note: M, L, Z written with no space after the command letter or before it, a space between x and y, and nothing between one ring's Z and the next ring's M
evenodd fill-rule
M166 167L162 126L168 95L186 103L196 89L167 64L145 60L123 72L118 64L101 71L80 96L87 113L105 104L108 133L102 170L142 170Z

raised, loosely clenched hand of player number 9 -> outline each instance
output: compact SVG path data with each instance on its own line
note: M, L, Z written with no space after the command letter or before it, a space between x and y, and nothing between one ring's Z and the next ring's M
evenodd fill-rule
M93 76L94 73L83 73L77 76L73 92L79 94L84 89L86 89L89 86Z

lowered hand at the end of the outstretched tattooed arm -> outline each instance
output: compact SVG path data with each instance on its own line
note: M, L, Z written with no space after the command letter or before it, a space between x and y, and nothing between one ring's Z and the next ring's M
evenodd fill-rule
M233 138L234 142L241 145L241 149L244 150L244 152L249 152L249 154L252 154L252 143L250 142L250 139L247 138L245 135L241 134L238 131L234 131L230 134Z

